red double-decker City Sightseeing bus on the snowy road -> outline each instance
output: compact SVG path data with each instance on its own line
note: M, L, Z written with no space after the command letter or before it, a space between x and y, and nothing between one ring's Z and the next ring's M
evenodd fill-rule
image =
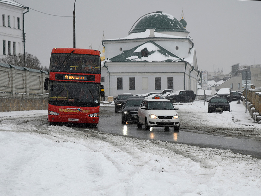
M48 121L64 123L99 122L101 58L98 50L54 48L50 59Z

